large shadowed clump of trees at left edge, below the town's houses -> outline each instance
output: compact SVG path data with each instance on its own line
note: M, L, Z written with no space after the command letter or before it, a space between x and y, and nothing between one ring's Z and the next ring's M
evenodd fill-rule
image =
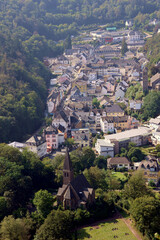
M0 144L0 212L6 213L25 206L33 192L55 187L53 169L44 166L39 158L27 150L22 153ZM5 198L5 202L4 199Z

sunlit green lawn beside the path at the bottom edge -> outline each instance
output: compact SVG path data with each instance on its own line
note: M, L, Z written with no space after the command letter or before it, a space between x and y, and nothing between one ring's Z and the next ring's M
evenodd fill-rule
M78 239L137 240L122 219L83 228L78 232Z

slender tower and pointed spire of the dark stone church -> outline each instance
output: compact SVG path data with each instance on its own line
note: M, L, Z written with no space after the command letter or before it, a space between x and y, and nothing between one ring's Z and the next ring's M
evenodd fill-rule
M63 165L63 184L67 185L73 180L73 169L72 169L72 163L70 160L68 148L66 148L66 155Z

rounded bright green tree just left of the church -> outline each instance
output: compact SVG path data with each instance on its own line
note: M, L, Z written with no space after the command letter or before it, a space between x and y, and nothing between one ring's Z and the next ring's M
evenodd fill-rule
M39 190L35 193L33 203L38 214L42 218L46 218L53 208L53 196L47 190Z

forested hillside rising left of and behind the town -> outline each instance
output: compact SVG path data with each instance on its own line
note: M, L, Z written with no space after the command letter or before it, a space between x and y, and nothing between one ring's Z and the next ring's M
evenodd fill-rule
M63 52L58 40L159 7L159 0L0 0L0 142L22 140L42 123L50 73L41 61Z

